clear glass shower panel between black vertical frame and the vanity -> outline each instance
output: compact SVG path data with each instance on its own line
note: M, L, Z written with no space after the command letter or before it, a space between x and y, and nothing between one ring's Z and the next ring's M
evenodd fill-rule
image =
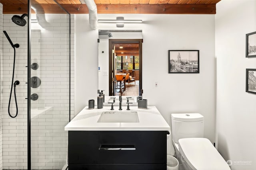
M70 14L45 14L31 2L31 169L60 170L70 119Z

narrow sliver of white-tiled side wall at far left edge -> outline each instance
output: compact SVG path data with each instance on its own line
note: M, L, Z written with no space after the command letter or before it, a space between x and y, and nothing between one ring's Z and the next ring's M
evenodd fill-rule
M3 169L2 68L3 68L3 5L0 4L0 170Z

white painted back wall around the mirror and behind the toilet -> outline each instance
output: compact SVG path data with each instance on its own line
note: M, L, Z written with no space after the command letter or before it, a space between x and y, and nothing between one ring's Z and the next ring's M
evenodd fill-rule
M143 23L125 23L121 29L142 29L142 86L148 104L155 105L166 121L170 113L201 113L205 117L204 136L215 142L214 15L99 14L98 19L116 19L116 16L143 20ZM90 29L88 14L76 15L75 29L75 113L78 113L89 99L96 100L97 96L98 30ZM117 28L115 23L100 23L98 29ZM200 50L200 74L168 74L171 49ZM154 82L158 82L157 88Z

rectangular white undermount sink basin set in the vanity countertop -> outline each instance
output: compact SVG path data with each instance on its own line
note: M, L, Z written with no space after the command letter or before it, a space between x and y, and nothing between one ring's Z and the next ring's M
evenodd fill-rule
M101 113L98 123L138 123L137 111L104 111Z

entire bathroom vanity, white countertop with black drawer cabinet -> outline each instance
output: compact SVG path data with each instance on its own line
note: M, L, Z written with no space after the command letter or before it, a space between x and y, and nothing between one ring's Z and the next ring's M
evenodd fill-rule
M166 170L170 126L154 106L85 107L68 125L69 170Z

